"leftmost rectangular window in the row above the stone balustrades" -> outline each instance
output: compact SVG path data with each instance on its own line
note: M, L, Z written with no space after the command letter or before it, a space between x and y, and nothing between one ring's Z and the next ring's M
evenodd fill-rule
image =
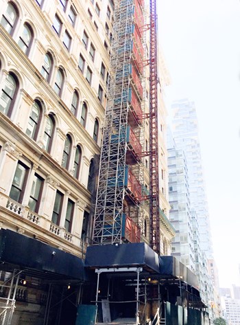
M27 174L29 168L25 166L21 161L16 165L16 171L14 174L14 179L12 181L12 187L10 190L10 198L16 202L22 203L23 194L25 190L25 186L27 183Z

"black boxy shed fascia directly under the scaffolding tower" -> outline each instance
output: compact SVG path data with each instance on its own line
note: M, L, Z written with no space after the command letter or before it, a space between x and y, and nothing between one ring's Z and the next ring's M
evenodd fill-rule
M143 267L145 271L158 273L159 258L146 243L93 245L86 249L85 267Z

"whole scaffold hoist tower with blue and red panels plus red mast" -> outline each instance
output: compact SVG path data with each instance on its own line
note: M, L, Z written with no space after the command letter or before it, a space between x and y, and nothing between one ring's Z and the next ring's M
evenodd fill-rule
M149 243L160 254L156 0L150 1L149 25L144 21L144 6L144 0L115 1L93 245L140 242L143 200L149 199ZM146 114L144 42L148 28L150 90ZM143 150L145 118L149 118L149 153ZM142 158L148 154L150 190L146 195Z

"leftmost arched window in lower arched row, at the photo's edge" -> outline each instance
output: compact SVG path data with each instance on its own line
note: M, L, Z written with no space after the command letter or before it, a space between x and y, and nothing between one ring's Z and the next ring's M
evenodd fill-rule
M14 100L16 98L16 93L19 89L19 80L16 78L12 72L8 74L5 78L3 89L1 89L0 97L0 111L7 115L11 116L12 108L14 106Z

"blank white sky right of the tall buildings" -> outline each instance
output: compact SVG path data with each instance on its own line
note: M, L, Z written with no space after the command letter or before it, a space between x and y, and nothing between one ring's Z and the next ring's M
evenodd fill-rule
M195 102L221 287L239 284L240 1L156 0L173 100Z

